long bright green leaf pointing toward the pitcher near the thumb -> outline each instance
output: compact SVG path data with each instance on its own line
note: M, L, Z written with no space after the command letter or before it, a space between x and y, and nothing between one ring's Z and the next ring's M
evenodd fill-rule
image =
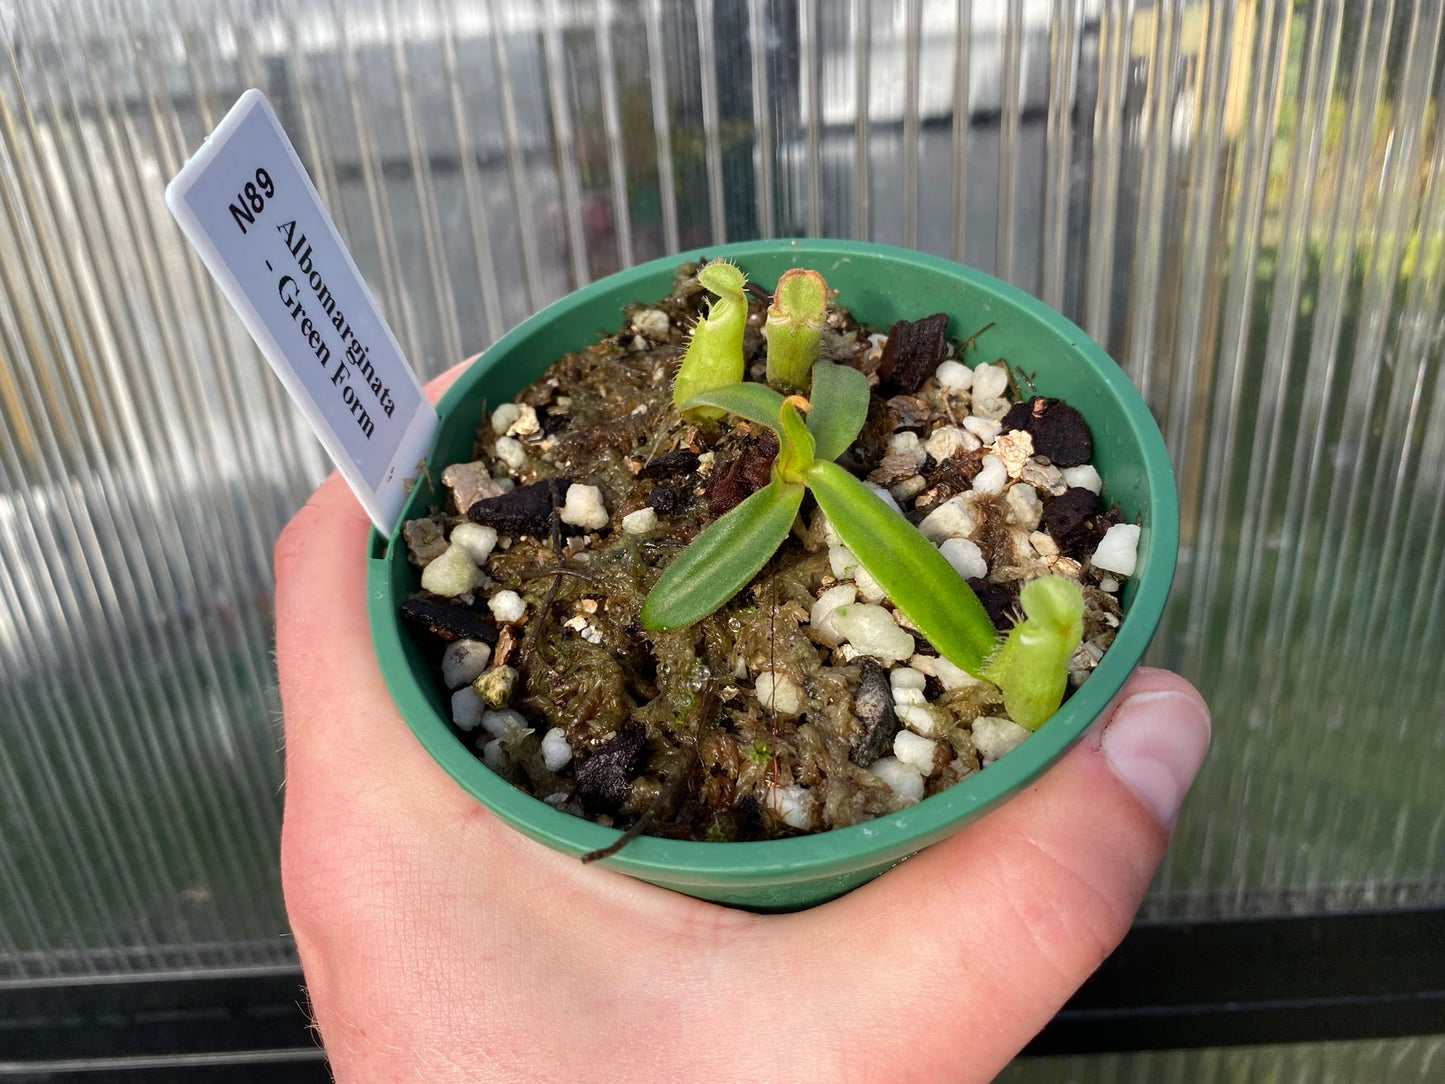
M835 463L814 463L808 487L838 538L893 604L945 659L980 676L998 633L978 595L933 543Z

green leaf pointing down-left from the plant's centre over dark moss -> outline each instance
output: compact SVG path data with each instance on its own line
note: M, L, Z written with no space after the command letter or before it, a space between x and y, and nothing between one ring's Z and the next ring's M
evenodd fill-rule
M653 585L642 607L642 626L682 629L747 587L788 538L802 502L802 486L775 477L709 523Z

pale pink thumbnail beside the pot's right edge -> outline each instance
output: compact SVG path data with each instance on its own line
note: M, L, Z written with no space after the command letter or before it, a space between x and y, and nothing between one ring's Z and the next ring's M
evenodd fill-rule
M1118 705L1100 749L1165 828L1173 828L1209 749L1209 713L1182 692L1139 692Z

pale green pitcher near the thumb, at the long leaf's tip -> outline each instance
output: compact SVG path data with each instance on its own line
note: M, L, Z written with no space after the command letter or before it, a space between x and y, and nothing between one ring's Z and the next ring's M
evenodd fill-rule
M1023 620L983 676L1003 689L1009 717L1038 730L1064 702L1069 659L1084 639L1084 591L1062 575L1032 580L1019 594Z

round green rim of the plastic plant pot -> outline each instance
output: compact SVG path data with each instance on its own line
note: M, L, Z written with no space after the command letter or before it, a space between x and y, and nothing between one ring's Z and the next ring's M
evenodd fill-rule
M438 413L447 419L483 373L525 345L540 328L553 321L571 318L574 312L600 298L616 296L620 315L624 304L650 301L650 298L634 296L636 289L631 283L642 282L659 272L670 275L681 263L695 262L707 256L709 259L725 257L746 264L750 257L777 257L780 254L799 257L806 266L821 270L825 278L828 275L827 260L831 260L834 266L855 259L883 259L913 264L945 276L948 280L990 293L1003 305L1019 309L1027 319L1042 324L1066 341L1074 354L1100 379L1107 395L1118 403L1127 421L1129 447L1142 455L1143 474L1149 489L1147 506L1142 507L1139 515L1146 526L1139 552L1142 571L1133 578L1134 597L1120 623L1117 637L1090 679L1022 746L985 770L980 770L906 809L847 828L754 843L704 843L642 835L630 841L616 856L600 863L644 880L662 880L683 890L689 885L715 887L728 882L738 885L746 882L747 886L760 887L786 885L799 880L801 873L806 874L809 880L821 880L855 872L860 866L860 856L879 860L883 857L883 851L892 851L894 857L902 859L951 835L975 814L991 808L1030 783L1078 741L1095 718L1111 710L1118 689L1139 663L1159 623L1172 585L1178 555L1178 494L1163 436L1140 393L1114 360L1104 353L1103 347L1095 344L1072 321L1006 282L938 256L894 246L801 238L743 241L694 249L617 272L553 302L497 340L447 392L438 403ZM1121 438L1124 435L1111 434L1111 436ZM434 447L428 455L428 464L435 454L436 448ZM415 515L412 512L413 502L415 497L403 509L403 520ZM399 543L394 552L405 555L405 545ZM371 532L368 554L371 555L368 574L371 629L379 658L383 661L381 669L403 718L434 759L454 780L499 817L556 850L575 856L614 843L621 835L618 830L604 828L553 809L546 802L494 775L481 763L480 757L467 749L462 739L457 737L451 721L439 717L431 701L418 688L416 675L405 665L400 637L406 632L397 619L400 600L394 598L390 588L387 542L376 530ZM387 656L393 659L393 665L386 665ZM394 662L397 656L402 656L400 663ZM426 675L426 679L431 679L431 675Z

